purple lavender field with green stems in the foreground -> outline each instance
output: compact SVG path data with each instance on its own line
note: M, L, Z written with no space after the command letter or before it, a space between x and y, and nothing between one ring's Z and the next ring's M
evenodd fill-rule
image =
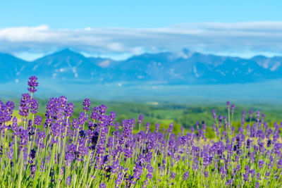
M59 96L42 116L37 86L30 77L18 110L0 101L1 187L281 187L282 123L269 126L264 113L243 111L237 127L227 102L225 114L210 112L213 125L177 132L142 114L119 123L90 99L73 118L75 106Z

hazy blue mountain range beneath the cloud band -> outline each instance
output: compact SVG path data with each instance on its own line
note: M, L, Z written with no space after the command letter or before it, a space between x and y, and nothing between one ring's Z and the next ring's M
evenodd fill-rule
M141 54L123 61L85 57L63 49L35 61L0 54L0 83L40 79L85 83L229 84L282 78L282 57L239 58L183 49Z

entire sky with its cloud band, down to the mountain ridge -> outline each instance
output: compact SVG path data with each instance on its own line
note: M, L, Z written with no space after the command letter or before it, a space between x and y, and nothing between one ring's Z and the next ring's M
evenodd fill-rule
M180 51L282 54L282 1L1 1L0 52L32 60Z

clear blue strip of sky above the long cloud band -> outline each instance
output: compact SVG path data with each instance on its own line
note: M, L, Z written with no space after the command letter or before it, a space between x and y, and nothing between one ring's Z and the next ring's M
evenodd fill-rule
M279 21L282 1L1 1L0 27L49 25L85 27L168 27L178 23Z

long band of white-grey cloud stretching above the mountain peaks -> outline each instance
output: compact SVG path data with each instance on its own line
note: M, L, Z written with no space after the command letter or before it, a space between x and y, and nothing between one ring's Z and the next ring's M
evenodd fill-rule
M235 56L275 55L282 54L282 22L188 23L136 29L51 30L47 25L0 29L2 52L46 54L64 47L88 54L141 54L187 48Z

